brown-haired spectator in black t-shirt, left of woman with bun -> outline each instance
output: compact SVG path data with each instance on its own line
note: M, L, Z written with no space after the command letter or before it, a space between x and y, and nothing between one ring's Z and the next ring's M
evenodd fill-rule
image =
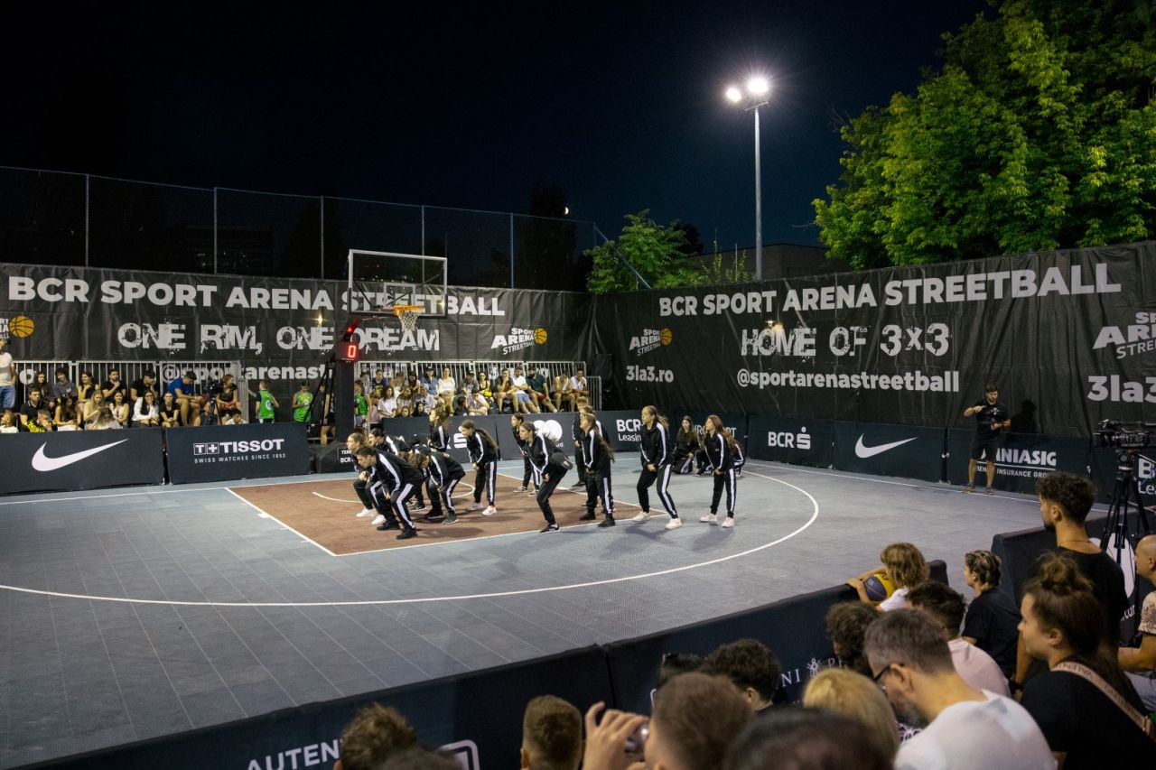
M964 554L963 579L976 597L968 605L962 636L994 658L1003 675L1011 679L1020 608L1010 592L999 590L1000 557L990 550Z

